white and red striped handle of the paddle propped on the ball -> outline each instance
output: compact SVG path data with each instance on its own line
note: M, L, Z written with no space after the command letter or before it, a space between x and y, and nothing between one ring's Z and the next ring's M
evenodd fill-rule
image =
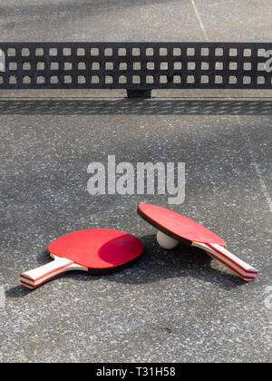
M248 263L239 259L234 254L229 252L227 249L215 243L199 243L193 242L192 246L204 249L207 253L214 259L219 260L223 265L227 266L228 269L234 271L238 276L244 280L253 280L257 276L257 269L254 269Z

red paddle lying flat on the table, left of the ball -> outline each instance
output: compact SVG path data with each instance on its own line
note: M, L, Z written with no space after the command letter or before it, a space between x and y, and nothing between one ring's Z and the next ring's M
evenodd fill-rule
M105 274L126 269L139 259L140 239L118 230L78 230L53 240L48 246L53 261L21 274L27 288L41 286L47 280L70 270Z

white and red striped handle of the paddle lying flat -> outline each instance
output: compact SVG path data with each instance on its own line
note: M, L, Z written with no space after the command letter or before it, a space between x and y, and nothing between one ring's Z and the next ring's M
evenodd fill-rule
M37 269L32 269L25 271L20 275L20 281L24 287L36 288L41 286L47 280L62 274L65 271L73 269L83 269L83 266L77 265L71 259L65 259L61 257L52 256L53 261L46 263L46 265L41 266Z

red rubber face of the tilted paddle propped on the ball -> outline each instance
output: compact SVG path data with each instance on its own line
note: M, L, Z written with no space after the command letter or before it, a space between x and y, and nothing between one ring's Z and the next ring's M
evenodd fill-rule
M158 230L166 234L169 232L170 237L226 246L226 242L217 234L175 211L144 203L139 205L138 210L143 219L149 221Z

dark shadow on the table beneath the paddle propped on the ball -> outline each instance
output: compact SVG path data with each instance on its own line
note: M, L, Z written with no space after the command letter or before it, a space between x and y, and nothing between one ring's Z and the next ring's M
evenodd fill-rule
M175 249L162 249L155 235L141 237L145 246L142 259L130 269L112 274L111 281L123 284L145 284L167 278L199 278L220 288L247 285L235 274L211 267L212 259L202 249L179 244ZM87 279L86 279L87 280Z

